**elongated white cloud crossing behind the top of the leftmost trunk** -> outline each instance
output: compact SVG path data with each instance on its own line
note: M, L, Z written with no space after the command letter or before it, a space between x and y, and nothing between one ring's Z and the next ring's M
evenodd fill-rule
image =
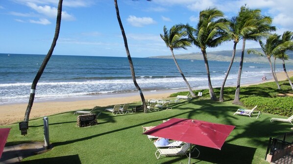
M45 6L38 6L35 3L27 2L27 6L34 9L40 14L43 14L49 18L55 18L57 16L57 8L55 7L50 7L48 5ZM68 21L73 21L74 17L68 14L66 11L62 11L62 19L63 20L68 20Z

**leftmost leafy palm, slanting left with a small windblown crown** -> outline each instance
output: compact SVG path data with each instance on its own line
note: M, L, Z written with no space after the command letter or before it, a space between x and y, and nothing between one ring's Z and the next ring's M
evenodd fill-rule
M161 36L162 40L165 41L167 47L170 48L173 60L176 64L184 82L186 83L191 96L195 97L195 93L192 91L189 83L187 82L183 72L181 71L181 69L179 67L179 64L176 61L174 53L173 53L173 49L179 49L179 48L187 49L186 46L190 46L191 41L187 38L182 38L182 37L186 36L187 33L186 33L186 31L181 31L180 27L172 26L170 28L170 30L168 31L166 26L164 26L163 30L164 30L164 34L160 34L160 36Z

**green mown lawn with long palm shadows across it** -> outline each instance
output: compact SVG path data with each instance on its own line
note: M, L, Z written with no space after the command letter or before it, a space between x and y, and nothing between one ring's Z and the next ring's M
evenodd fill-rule
M135 103L131 104L135 106ZM196 164L268 164L265 161L269 137L290 131L289 123L270 123L271 117L262 113L259 119L233 115L242 106L229 102L212 102L206 98L173 104L172 110L139 112L113 116L102 112L98 125L77 127L74 111L49 116L49 137L53 148L44 154L25 158L29 164L186 164L188 158L165 157L156 159L156 147L143 135L142 126L155 126L170 118L197 119L213 123L235 125L221 150L198 146L200 156ZM286 117L284 117L286 118ZM18 123L0 126L11 127L6 145L30 141L43 141L43 119L29 122L28 134L21 135ZM196 154L193 154L195 157Z

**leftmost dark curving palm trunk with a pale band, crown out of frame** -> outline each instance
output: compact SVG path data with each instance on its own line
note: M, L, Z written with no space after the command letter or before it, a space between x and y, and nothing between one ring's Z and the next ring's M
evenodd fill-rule
M50 57L51 57L51 55L53 53L53 50L54 50L54 48L56 46L56 42L57 42L58 37L59 37L60 24L61 24L61 13L62 13L62 2L63 2L63 0L59 0L59 3L58 3L57 20L56 20L54 39L52 41L51 47L49 49L49 52L48 52L47 56L45 57L45 59L44 59L42 65L41 65L37 75L35 76L35 79L32 82L32 85L31 85L29 101L28 101L26 111L25 111L25 115L24 115L24 122L27 122L27 123L28 123L29 114L30 114L30 111L31 111L31 108L32 108L32 105L33 105L33 102L34 102L37 83L39 82L39 80L40 80L40 78L41 78L41 76L42 76L42 74L43 74L43 72L44 72L44 70L46 68L47 63L50 60Z

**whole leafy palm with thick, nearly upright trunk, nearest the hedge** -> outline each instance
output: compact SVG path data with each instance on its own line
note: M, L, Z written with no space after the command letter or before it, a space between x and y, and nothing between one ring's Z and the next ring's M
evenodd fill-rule
M241 52L239 70L238 70L235 97L234 97L234 101L232 102L234 104L241 104L240 80L241 80L241 73L242 73L242 67L243 67L243 61L244 61L245 41L246 40L257 41L269 35L268 33L269 31L275 30L275 27L270 25L272 22L271 18L262 16L261 10L259 9L251 10L249 8L246 8L246 6L242 6L240 14L241 14L240 17L242 16L246 17L245 23L250 24L250 27L244 31L244 35L243 35L242 52Z

